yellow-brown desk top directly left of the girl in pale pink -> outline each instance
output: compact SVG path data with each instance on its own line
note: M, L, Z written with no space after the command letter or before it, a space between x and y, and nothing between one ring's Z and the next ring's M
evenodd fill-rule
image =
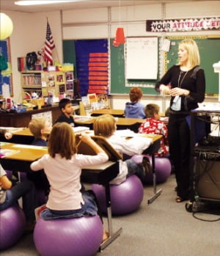
M1 142L2 149L16 150L18 152L13 153L9 156L4 156L5 159L19 160L19 161L36 161L41 158L44 154L48 153L46 147L38 147L32 145L20 145L14 143Z

